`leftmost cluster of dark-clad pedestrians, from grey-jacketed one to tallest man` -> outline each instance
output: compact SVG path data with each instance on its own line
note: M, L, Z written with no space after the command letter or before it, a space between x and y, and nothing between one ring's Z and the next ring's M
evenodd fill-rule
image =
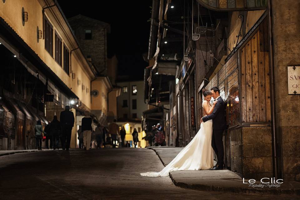
M37 149L42 150L42 139L46 139L46 148L57 149L59 140L63 150L69 150L72 128L74 127L74 114L70 111L70 106L66 106L65 110L60 113L60 121L57 116L53 117L53 120L47 124L43 130L41 120L37 120L35 126L35 137Z

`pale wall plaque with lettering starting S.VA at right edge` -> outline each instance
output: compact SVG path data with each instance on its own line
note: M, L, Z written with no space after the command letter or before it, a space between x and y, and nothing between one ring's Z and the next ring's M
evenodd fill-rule
M300 66L287 66L288 94L300 94Z

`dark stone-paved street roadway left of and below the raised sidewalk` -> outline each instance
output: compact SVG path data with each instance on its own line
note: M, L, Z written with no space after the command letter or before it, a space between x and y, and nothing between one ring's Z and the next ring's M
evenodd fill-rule
M169 177L143 177L163 164L151 149L40 151L0 157L1 199L297 199L176 187Z

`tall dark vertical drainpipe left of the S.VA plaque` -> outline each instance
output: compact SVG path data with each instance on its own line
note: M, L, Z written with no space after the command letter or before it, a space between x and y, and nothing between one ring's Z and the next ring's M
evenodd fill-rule
M276 131L276 108L275 108L275 77L274 77L274 57L273 57L273 35L272 35L272 4L268 1L268 28L269 28L269 51L270 51L270 98L271 98L271 123L272 123L272 161L273 161L273 176L278 179L278 150L277 149L277 131ZM282 168L281 168L282 170ZM282 177L280 177L282 178Z

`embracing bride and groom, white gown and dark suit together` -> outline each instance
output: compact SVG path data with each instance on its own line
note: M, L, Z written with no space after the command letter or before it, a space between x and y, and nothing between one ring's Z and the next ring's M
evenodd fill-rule
M177 170L220 170L225 168L223 148L223 131L226 128L225 103L217 87L213 87L210 91L202 90L202 94L204 117L200 120L198 133L162 171L141 173L142 176L168 176L169 172ZM212 97L214 102L211 104ZM213 166L212 150L217 155L215 166Z

